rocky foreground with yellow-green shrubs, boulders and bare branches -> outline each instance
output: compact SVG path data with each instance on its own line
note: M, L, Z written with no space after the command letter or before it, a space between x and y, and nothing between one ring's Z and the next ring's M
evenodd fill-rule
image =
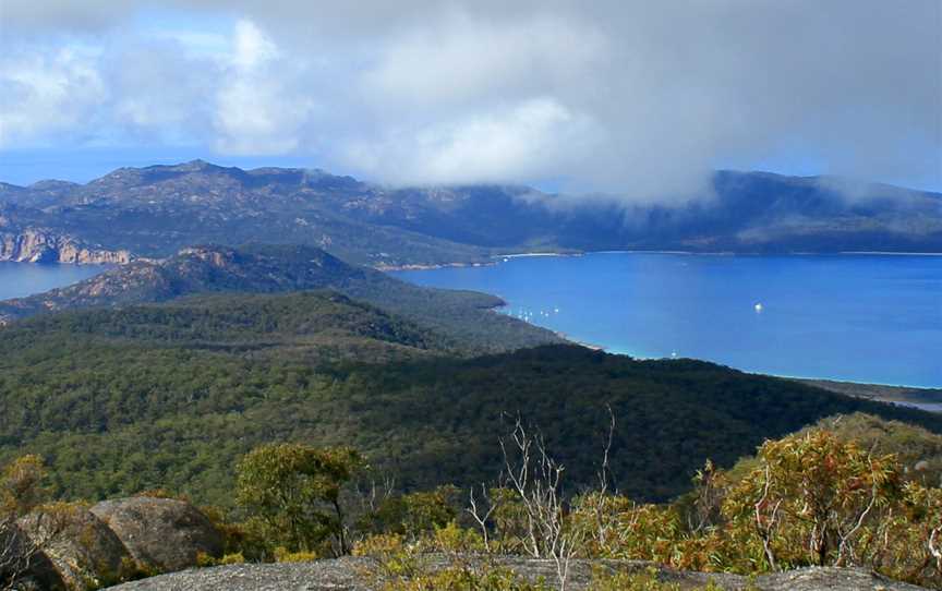
M861 429L882 434L860 439ZM154 491L89 511L48 503L41 459L23 456L0 470L0 540L29 538L0 555L0 582L82 591L189 567L126 588L938 589L942 489L877 449L914 436L938 451L938 435L903 423L828 419L766 439L732 470L706 461L689 494L660 505L611 489L604 454L595 485L564 494L568 471L521 421L500 446L504 475L470 495L377 494L358 485L370 468L355 449L282 443L238 459L227 510ZM245 562L281 564L231 566Z

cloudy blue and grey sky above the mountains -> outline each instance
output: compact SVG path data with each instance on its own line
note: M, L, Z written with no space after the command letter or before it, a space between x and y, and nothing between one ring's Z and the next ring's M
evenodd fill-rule
M940 31L939 0L0 0L0 180L198 157L653 200L716 168L942 191Z

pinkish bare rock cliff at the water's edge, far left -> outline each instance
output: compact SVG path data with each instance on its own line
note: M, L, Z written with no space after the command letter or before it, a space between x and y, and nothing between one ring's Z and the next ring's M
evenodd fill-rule
M0 261L122 265L131 261L131 253L87 246L69 236L29 229L0 233Z

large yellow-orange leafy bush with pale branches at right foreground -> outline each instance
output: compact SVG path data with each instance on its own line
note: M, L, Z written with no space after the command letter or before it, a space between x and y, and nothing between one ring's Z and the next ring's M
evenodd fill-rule
M860 541L901 493L893 456L874 457L826 431L765 442L758 459L723 512L734 538L758 541L771 569L860 564Z

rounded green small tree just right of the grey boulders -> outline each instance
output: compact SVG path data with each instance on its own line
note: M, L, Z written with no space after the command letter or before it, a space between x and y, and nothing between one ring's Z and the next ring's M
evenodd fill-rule
M265 445L239 462L237 500L276 545L313 552L328 542L334 555L348 554L340 492L364 465L347 447Z

